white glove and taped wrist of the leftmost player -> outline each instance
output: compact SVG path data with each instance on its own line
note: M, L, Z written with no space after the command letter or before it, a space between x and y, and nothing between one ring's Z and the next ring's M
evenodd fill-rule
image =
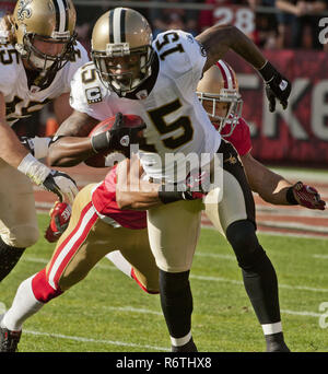
M79 192L75 182L69 175L47 167L31 153L21 161L17 170L28 176L37 186L56 194L60 201L67 199L72 203Z

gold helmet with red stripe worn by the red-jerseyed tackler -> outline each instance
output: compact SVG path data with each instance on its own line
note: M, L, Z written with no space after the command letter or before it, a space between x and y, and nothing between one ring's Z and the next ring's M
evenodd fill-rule
M206 105L207 113L212 122L214 122L218 131L221 132L226 124L231 125L231 131L223 135L230 137L235 129L242 115L243 100L239 94L238 81L236 73L226 62L219 60L214 66L206 71L203 78L197 86L197 95L201 102L211 103ZM216 103L227 103L229 109L224 117L216 114Z

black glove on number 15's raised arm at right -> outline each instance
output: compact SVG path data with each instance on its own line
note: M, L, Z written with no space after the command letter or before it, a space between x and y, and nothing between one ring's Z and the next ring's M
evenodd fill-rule
M280 74L273 66L267 63L258 71L266 82L266 94L269 101L270 112L276 110L276 100L278 98L283 109L288 107L288 98L291 94L291 82Z

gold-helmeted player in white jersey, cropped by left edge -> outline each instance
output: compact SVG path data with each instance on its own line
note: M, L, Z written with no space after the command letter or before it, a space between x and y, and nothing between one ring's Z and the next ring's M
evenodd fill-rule
M31 180L59 199L72 200L78 192L68 175L36 160L47 154L49 138L34 138L23 147L11 128L50 101L59 121L71 113L71 78L89 61L74 26L71 0L21 0L0 22L0 281L38 238Z

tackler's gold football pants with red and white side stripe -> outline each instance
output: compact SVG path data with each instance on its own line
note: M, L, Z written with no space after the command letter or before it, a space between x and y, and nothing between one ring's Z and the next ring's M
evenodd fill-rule
M147 229L114 227L102 221L91 202L93 187L84 187L75 197L69 226L45 269L47 283L52 290L63 292L84 279L106 254L119 249L133 267L137 281L149 292L157 292L157 268Z

